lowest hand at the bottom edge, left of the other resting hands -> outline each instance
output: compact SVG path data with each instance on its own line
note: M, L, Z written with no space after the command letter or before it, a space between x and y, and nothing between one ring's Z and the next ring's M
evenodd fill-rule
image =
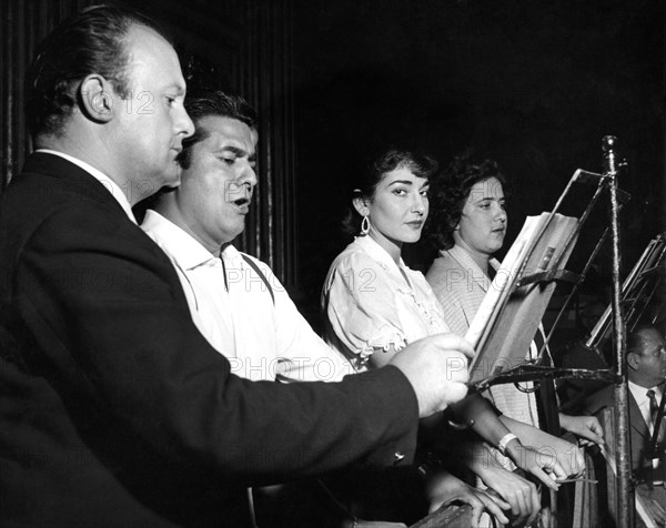
M431 514L442 506L448 505L454 500L460 500L472 506L472 526L478 526L484 511L496 517L503 525L508 522L508 518L502 511L503 509L511 508L508 502L493 497L483 489L473 488L450 473L441 471L434 476L430 476L426 489L430 498Z

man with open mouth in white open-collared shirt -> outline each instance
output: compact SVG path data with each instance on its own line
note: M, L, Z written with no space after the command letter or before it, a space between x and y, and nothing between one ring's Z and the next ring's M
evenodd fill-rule
M231 242L256 185L256 116L219 91L186 99L181 185L149 209L143 230L173 263L200 332L253 380L340 380L353 369L310 327L271 268Z

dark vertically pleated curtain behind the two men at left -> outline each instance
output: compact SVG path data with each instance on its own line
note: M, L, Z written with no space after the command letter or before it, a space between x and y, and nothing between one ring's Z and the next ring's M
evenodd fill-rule
M287 287L296 275L291 0L4 0L0 2L0 190L31 151L23 75L37 43L88 6L139 9L173 37L188 85L240 93L260 112L259 187L235 244L268 262Z

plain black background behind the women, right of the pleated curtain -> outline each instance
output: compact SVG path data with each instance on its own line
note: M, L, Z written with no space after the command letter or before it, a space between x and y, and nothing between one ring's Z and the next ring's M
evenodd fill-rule
M349 242L340 221L360 160L379 143L408 140L443 165L468 146L497 160L511 183L506 248L576 169L602 171L602 138L614 134L633 195L622 217L629 268L663 230L664 11L652 0L295 2L297 301L311 322ZM577 196L566 212L579 214L588 195ZM431 258L406 252L413 267ZM609 263L605 250L593 273L601 295Z

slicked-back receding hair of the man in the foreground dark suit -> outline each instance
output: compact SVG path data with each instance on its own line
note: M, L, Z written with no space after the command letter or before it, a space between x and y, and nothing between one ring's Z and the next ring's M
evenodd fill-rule
M104 77L121 98L128 97L130 55L124 40L134 26L150 28L169 40L143 14L95 6L62 22L39 44L26 74L26 116L33 136L62 132L79 104L77 89L89 74Z

